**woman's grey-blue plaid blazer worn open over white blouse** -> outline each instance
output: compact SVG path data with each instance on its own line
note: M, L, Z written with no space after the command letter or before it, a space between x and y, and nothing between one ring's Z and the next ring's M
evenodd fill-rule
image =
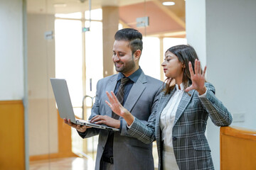
M195 90L184 93L178 105L173 127L173 146L176 162L179 169L214 169L210 156L210 147L206 140L205 131L208 117L217 126L230 125L232 116L223 103L215 97L215 89L212 84L206 83L208 89L206 98L199 98ZM135 118L128 133L145 143L156 140L159 153L159 169L161 166L161 155L163 142L161 140L161 129L159 125L161 112L166 107L171 94L159 95L159 104L149 118L149 125L144 125Z

